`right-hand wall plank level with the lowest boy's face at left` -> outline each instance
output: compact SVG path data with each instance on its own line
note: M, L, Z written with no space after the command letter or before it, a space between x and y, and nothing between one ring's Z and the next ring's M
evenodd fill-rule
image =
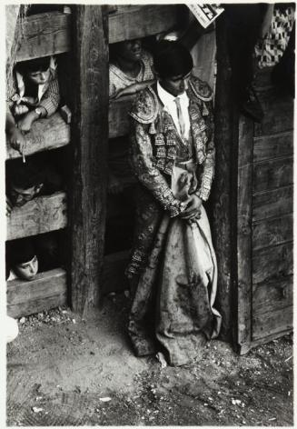
M252 284L281 281L292 274L292 243L256 250L252 254Z

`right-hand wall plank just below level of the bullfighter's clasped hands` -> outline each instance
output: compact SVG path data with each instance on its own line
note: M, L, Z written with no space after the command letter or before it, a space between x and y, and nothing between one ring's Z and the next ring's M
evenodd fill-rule
M292 214L264 219L252 225L252 251L292 241Z

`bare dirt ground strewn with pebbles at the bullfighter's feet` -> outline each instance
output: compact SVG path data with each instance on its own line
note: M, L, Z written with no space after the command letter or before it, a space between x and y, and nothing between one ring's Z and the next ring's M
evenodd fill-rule
M195 362L136 358L128 298L105 298L87 323L66 307L20 321L7 346L7 425L293 424L292 335L234 354L213 341Z

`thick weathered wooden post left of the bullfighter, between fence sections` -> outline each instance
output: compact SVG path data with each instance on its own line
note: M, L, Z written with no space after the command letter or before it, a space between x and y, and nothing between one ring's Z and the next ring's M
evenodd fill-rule
M73 16L71 304L87 314L102 286L108 143L108 15L75 5Z

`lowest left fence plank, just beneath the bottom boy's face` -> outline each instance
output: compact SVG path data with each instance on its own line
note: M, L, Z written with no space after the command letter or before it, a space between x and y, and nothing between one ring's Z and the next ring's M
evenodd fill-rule
M66 272L56 268L26 282L15 279L7 282L7 314L21 317L38 313L67 302Z

